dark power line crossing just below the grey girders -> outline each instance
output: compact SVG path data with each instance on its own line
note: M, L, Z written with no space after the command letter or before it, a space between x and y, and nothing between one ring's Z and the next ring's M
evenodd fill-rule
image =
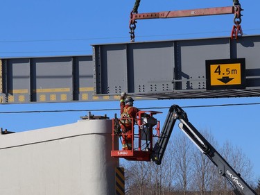
M239 105L260 105L260 103L228 103L218 105L184 105L182 108L211 108L211 107L225 107L225 106L239 106ZM139 110L162 110L169 109L170 107L147 107L139 108ZM0 112L0 114L21 114L21 113L40 113L40 112L104 112L116 111L119 108L106 108L106 109L92 109L92 110L29 110L29 111L7 111Z

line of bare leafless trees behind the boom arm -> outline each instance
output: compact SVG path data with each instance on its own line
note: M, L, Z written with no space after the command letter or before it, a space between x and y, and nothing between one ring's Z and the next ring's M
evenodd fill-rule
M238 146L218 146L207 130L202 135L259 194L260 179L254 183L252 162ZM234 194L228 180L183 133L173 135L161 165L154 162L123 162L125 194L128 195L228 195Z

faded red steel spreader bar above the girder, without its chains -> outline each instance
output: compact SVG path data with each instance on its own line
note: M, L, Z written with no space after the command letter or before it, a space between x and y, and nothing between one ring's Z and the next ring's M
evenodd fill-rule
M176 10L163 12L148 12L148 13L132 13L131 23L137 19L159 19L159 18L174 18L174 17L195 17L207 15L227 15L234 13L234 7L219 7L219 8L201 8L195 10Z

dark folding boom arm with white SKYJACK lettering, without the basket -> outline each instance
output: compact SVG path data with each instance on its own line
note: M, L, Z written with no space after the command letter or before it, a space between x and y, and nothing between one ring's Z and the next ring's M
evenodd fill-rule
M257 195L256 192L241 178L239 173L236 173L234 169L227 163L227 161L214 149L207 139L203 137L198 130L189 122L186 112L178 105L172 105L168 111L166 121L162 128L161 135L157 140L153 148L151 159L156 164L161 164L164 151L171 137L173 126L175 122L179 120L180 129L191 139L191 141L200 149L202 153L218 167L218 173L225 177L234 188L234 193L237 195Z

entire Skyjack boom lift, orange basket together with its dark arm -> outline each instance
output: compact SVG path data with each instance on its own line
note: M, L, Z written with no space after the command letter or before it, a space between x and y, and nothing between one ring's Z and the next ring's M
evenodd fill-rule
M257 195L250 185L245 183L240 173L237 173L214 149L214 146L211 146L207 139L189 122L186 112L180 106L171 106L161 132L159 131L159 121L153 117L161 112L150 111L148 113L140 111L137 113L136 119L132 119L132 143L134 145L131 150L127 151L119 149L119 138L126 135L120 130L121 119L112 119L112 157L138 161L153 160L156 164L161 164L175 122L180 121L179 128L216 165L218 173L228 180L236 195ZM138 126L136 133L135 124ZM137 139L138 143L135 144L134 138ZM153 144L153 139L157 139L155 144Z

